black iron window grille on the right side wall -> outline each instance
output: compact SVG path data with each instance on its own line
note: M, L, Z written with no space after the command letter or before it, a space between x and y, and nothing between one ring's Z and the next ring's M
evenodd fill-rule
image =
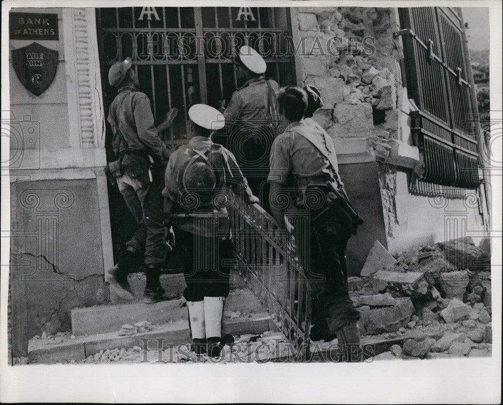
M413 141L424 153L422 180L477 188L476 114L470 100L463 20L453 8L400 9Z

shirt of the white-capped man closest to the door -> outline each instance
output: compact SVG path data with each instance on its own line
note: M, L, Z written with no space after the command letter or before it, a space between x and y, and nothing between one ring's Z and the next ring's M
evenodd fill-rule
M279 85L274 80L268 80L271 88L277 94ZM264 76L248 80L241 89L232 94L224 114L230 115L230 121L264 121L271 122L269 111L269 86Z

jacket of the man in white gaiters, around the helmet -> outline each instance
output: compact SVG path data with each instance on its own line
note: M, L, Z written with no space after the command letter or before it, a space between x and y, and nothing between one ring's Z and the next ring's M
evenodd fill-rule
M180 170L184 166L184 164L190 160L192 157L189 154L190 149L195 150L206 150L212 149L213 153L220 153L223 160L223 167L219 168L221 174L221 180L223 187L225 186L237 186L239 185L244 193L247 194L248 197L251 197L253 193L248 187L248 182L243 177L241 170L237 166L236 159L234 155L218 144L215 144L211 141L211 139L204 136L194 136L191 138L187 145L183 145L178 148L173 154L170 156L170 160L167 163L164 184L165 187L162 190L162 195L167 200L167 212L171 213L173 208L173 203L179 203L179 197L181 196L180 189L177 184L177 178L180 173ZM166 204L165 204L166 207ZM207 210L206 210L207 211ZM227 216L227 210L225 208L214 208L215 216L219 218L218 222L218 231L219 235L226 234L229 230L229 219ZM179 228L186 230L188 232L200 234L203 236L214 236L212 230L210 229L207 222L202 222L196 225L197 212L194 213L193 217L188 218L176 218L176 224Z

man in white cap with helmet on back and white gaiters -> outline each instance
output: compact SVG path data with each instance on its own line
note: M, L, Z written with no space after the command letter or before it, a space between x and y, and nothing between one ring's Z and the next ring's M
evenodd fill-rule
M229 266L224 262L232 258L233 250L226 188L242 193L251 204L259 200L233 154L210 139L212 130L224 126L221 113L196 104L189 109L189 118L193 136L171 155L166 168L164 225L173 226L176 250L183 258L191 349L216 357L225 344L222 313L229 293Z

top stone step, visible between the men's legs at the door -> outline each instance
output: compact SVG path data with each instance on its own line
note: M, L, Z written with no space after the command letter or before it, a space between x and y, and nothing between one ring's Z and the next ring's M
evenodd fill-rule
M143 291L145 290L145 273L132 273L129 275L128 281L134 296L138 300L142 300ZM160 284L167 292L178 292L180 296L182 296L185 287L187 287L183 273L162 274L160 276ZM230 289L236 290L242 288L246 288L244 280L237 273L231 272ZM112 290L110 290L110 300L114 304L124 302L121 298L117 297Z

